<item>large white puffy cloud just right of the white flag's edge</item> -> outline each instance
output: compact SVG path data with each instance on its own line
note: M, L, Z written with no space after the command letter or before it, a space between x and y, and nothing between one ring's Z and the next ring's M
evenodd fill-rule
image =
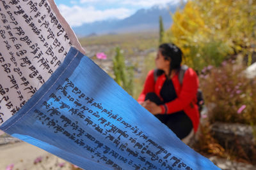
M109 18L122 19L129 17L132 14L132 11L127 8L96 10L93 6L83 8L77 5L70 7L64 4L60 4L58 8L63 17L67 20L68 24L72 27L76 27L84 23L107 20Z

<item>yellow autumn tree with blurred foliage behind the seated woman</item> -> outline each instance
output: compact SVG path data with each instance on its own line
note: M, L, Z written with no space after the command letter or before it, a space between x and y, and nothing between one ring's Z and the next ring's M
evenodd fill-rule
M164 41L182 48L185 62L195 69L219 66L234 53L255 52L256 1L194 0L172 15Z

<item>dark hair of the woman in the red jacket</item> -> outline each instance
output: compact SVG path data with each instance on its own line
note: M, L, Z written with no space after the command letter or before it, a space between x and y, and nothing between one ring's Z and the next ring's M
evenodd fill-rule
M159 45L159 50L164 56L165 60L171 60L170 62L170 74L173 69L180 69L182 62L182 52L180 48L174 44L164 43Z

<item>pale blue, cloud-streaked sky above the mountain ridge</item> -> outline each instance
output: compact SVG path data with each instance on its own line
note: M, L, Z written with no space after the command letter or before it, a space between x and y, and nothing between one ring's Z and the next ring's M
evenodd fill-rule
M88 22L126 18L141 8L180 0L54 0L68 24L76 27Z

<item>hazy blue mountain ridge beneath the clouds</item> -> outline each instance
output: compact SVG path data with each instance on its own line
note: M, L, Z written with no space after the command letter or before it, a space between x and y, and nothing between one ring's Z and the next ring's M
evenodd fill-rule
M122 20L103 20L83 24L72 28L78 37L118 34L127 32L157 31L159 29L159 16L163 18L164 29L172 24L171 13L174 13L179 4L167 4L166 6L152 6L149 9L140 9L130 17Z

